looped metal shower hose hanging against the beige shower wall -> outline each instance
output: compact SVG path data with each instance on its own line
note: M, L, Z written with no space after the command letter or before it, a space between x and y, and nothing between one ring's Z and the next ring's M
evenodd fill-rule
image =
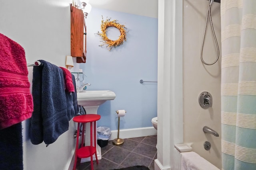
M212 25L212 17L211 17L211 5L212 5L212 2L214 0L209 0L209 5L208 5L208 10L207 10L207 15L206 15L206 22L205 22L205 27L204 27L204 37L205 37L205 32L206 32L206 26L207 26L207 20L208 20L208 15L209 15L209 18L210 18L210 23L211 23L211 26L212 26L212 33L213 33L213 36L214 36L214 41L215 41L215 44L216 44L216 47L217 47L217 53L218 53L218 56L216 58L216 60L213 62L213 63L206 63L203 59L203 56L202 56L202 53L203 53L203 47L204 47L204 37L203 37L203 42L202 42L202 47L201 47L201 61L206 64L206 65L212 65L214 63L216 63L219 59L219 56L220 56L220 51L219 51L219 47L218 47L218 42L217 42L217 39L216 39L216 35L215 35L215 32L214 32L214 29L213 29L213 25Z

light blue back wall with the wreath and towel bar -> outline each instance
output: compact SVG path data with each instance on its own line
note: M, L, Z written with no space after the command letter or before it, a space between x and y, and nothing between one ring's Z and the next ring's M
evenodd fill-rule
M129 31L123 45L108 51L102 44L100 30L102 20L108 17L118 20ZM157 116L157 83L140 84L140 79L157 81L158 19L110 10L93 8L86 19L87 59L80 64L86 74L88 90L112 90L114 100L102 104L98 114L102 117L98 126L116 130L116 110L125 109L120 119L120 129L151 127L151 119ZM108 37L119 31L110 29ZM116 39L120 34L116 36ZM114 39L114 38L111 38Z

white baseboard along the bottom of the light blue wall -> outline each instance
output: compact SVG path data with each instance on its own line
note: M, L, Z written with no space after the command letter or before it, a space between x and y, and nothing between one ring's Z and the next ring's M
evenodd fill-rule
M111 136L109 141L112 141L117 138L118 131L111 131ZM156 135L157 131L154 127L141 127L141 128L134 128L134 129L120 129L119 131L119 138L126 139L126 138L133 138L133 137L144 137L144 136L152 136Z

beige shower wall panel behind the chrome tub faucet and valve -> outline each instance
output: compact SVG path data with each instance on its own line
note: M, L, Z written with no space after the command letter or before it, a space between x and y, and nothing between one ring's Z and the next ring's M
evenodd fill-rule
M221 49L217 63L207 66L200 60L200 50L204 35L204 26L208 2L206 0L184 0L183 5L183 108L184 108L184 143L192 143L193 151L206 160L221 167L221 123L220 123L220 78ZM220 3L213 2L212 21L214 31L221 48L220 39ZM204 43L204 61L212 63L217 57L210 22ZM203 109L198 104L201 92L212 94L213 105ZM208 126L217 131L220 137L214 137L203 132ZM210 150L204 149L204 142L212 145Z

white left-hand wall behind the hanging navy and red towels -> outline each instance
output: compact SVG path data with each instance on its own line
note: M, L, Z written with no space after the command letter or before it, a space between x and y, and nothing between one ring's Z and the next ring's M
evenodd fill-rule
M70 55L70 0L1 0L0 32L25 49L27 63L38 59L65 66ZM32 67L29 80L32 82ZM23 125L24 170L64 170L70 164L75 141L70 130L46 148L32 145L28 121ZM14 160L15 163L15 160Z

